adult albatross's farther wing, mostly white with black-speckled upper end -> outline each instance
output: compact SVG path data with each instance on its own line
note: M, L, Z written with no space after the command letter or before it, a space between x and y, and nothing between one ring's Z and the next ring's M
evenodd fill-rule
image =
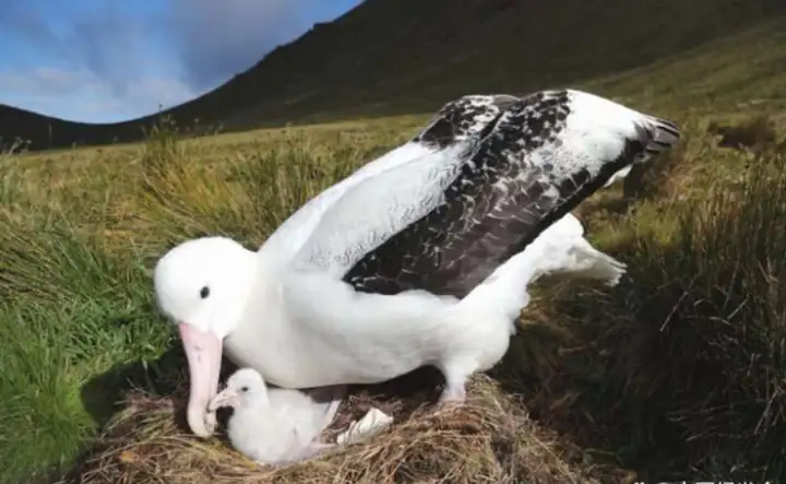
M478 94L446 103L410 141L360 167L287 220L275 234L282 240L278 252L297 252L295 268L343 275L368 250L433 209L463 162L465 146L478 142L519 101ZM298 234L303 241L295 244L281 234Z

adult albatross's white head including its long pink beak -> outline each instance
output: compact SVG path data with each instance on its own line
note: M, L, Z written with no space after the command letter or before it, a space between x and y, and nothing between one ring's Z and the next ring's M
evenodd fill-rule
M189 365L188 423L201 437L210 400L218 390L223 340L242 320L253 286L254 252L225 237L186 241L156 264L154 286L162 312L178 327Z

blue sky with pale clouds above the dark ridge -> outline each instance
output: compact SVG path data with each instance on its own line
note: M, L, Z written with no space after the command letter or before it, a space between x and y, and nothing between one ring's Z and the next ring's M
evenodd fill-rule
M196 97L358 0L3 0L0 104L114 122Z

